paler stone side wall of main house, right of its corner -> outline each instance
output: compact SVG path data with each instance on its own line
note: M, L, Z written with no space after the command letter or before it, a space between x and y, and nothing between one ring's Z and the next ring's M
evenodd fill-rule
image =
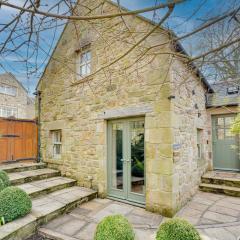
M208 169L209 133L205 107L206 88L179 60L172 65L173 107L173 185L177 208L196 193L202 174ZM198 157L197 131L200 131L202 157Z

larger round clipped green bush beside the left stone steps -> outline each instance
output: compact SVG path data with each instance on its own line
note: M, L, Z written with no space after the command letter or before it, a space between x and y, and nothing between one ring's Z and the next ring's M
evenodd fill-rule
M25 191L17 187L7 187L0 192L0 217L11 222L28 214L32 202Z

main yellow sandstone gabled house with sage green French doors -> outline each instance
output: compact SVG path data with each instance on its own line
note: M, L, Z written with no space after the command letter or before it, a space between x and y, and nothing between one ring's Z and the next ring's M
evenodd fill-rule
M84 1L91 14L119 10L99 3ZM100 197L172 216L213 168L206 93L214 89L160 27L109 65L155 26L141 16L123 18L66 25L37 86L41 155Z

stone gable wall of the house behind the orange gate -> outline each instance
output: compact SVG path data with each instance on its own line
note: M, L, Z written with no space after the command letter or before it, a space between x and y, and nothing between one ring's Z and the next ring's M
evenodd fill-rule
M16 96L0 93L0 106L17 108L17 118L35 118L34 101L29 99L27 92L16 81L15 77L9 73L0 75L0 83L17 88Z

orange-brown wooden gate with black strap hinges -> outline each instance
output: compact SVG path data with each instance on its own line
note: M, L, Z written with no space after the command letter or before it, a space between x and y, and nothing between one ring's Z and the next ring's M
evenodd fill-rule
M36 121L0 118L0 163L36 159Z

